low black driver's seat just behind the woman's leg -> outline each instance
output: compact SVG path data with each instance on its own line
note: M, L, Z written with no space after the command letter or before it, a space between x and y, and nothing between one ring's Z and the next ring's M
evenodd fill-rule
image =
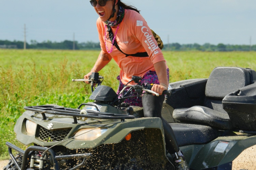
M215 128L203 125L170 123L179 146L204 144L218 137Z

